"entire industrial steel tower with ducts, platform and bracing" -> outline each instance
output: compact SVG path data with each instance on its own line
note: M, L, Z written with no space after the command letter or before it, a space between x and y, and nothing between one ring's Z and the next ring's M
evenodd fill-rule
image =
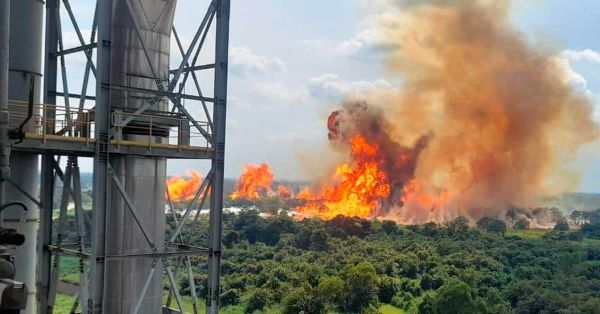
M30 291L26 313L51 313L62 290L76 296L73 311L183 312L178 271L188 277L197 313L198 261L207 263L208 312L218 312L229 4L97 0L93 21L83 21L69 0L46 0L43 27L42 1L0 0L0 206L17 201L28 209L3 214L4 226L26 236L15 252L15 279ZM202 13L187 45L176 10ZM65 47L65 21L75 46ZM82 23L91 24L87 38ZM69 80L75 55L85 66ZM80 157L93 158L91 210L82 202ZM166 238L169 159L204 159L211 170L185 210L170 206L174 231ZM187 243L183 230L206 199L208 241ZM65 242L69 228L76 243ZM78 285L59 281L63 256L79 260Z

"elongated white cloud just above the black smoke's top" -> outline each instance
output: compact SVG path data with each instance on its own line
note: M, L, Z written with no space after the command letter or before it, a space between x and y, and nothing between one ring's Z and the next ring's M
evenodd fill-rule
M384 79L375 81L344 81L337 74L333 73L313 77L306 84L306 89L313 98L330 100L391 88L393 88L392 85Z

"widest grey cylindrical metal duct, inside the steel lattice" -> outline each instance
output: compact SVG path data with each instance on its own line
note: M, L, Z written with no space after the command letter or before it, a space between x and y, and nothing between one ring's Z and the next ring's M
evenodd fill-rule
M115 1L113 8L111 84L156 90L153 71L166 84L169 78L170 34L176 0ZM131 5L131 7L128 7ZM131 12L133 11L133 12ZM133 15L133 16L132 16ZM139 34L134 25L139 25ZM146 51L144 51L144 47ZM148 56L148 58L146 57ZM148 62L151 60L152 66ZM153 96L113 90L111 107L124 112L151 101ZM166 101L156 102L148 112L168 111ZM124 140L164 142L166 128L149 126L142 119L133 120L123 130ZM151 136L152 138L149 138ZM115 174L123 182L142 223L156 248L162 250L165 236L166 159L143 156L111 156ZM107 211L107 255L147 253L149 246L122 195L113 187ZM131 313L140 297L153 265L151 257L124 258L106 262L106 313ZM160 313L163 271L160 262L145 293L139 313Z

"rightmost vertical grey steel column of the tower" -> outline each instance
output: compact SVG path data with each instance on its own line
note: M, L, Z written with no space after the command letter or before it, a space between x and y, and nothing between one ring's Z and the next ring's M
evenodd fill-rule
M221 228L223 220L223 176L225 165L225 118L227 111L227 56L229 46L229 0L217 5L215 45L215 103L213 107L214 148L212 194L210 200L208 257L208 312L219 312L221 267Z

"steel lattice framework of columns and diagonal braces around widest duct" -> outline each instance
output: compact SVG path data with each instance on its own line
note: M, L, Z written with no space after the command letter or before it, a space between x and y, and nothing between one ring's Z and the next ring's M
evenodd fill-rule
M90 37L86 40L81 30L81 20L73 11L69 0L46 0L45 27L45 73L43 104L36 104L41 112L37 126L30 126L24 133L22 142L12 147L14 151L37 153L42 156L41 193L36 199L31 193L22 191L41 207L42 217L39 237L38 299L39 312L51 313L59 286L60 259L72 256L79 259L79 285L72 313L80 306L87 313L102 313L106 294L106 263L111 260L152 258L152 268L144 282L134 313L140 309L151 279L162 265L168 278L170 293L167 307L175 300L177 310L183 313L181 294L175 280L178 271L185 271L190 286L190 298L194 313L199 312L197 282L192 273L194 255L206 255L208 260L209 313L217 313L219 308L219 281L221 255L221 225L223 206L223 171L225 150L225 115L227 107L227 56L229 36L229 0L206 1L207 9L187 47L183 44L175 27L172 37L175 40L181 62L169 71L169 80L164 82L153 69L156 88L146 89L112 84L110 80L111 27L113 5L118 1L127 2L133 10L136 0L97 0L91 25ZM169 0L168 0L169 1ZM170 0L174 1L174 0ZM197 6L197 5L195 5ZM185 9L185 8L179 8ZM193 8L197 9L197 8ZM130 12L131 13L131 12ZM61 22L68 18L77 37L78 45L65 47ZM140 23L131 14L140 44L144 49L148 64L153 62L146 51L145 39L141 35ZM89 23L89 21L86 21ZM176 21L175 21L176 22ZM214 36L207 36L212 31ZM212 62L199 64L201 52L206 50L207 38L214 37ZM80 54L85 57L81 91L70 91L68 67L65 57ZM95 56L95 58L94 58ZM198 77L200 71L213 71L210 87L212 97L206 96ZM186 83L192 81L193 93L186 92ZM60 79L60 81L59 81ZM95 81L95 95L90 95ZM60 84L60 86L59 86ZM212 85L212 86L211 86ZM60 90L58 90L60 88ZM116 110L111 104L111 91L127 91L146 95L150 100L132 112ZM169 112L151 111L153 104L168 100ZM186 106L183 101L187 100ZM191 104L190 104L191 103ZM30 104L31 106L31 104ZM192 106L199 114L192 114ZM61 118L62 117L62 118ZM177 134L175 144L157 144L149 141L135 142L122 137L125 128L132 127L134 121L147 121L148 137L152 138L154 125L173 125ZM196 134L196 143L190 143L191 134ZM199 144L202 143L202 144ZM147 226L139 219L140 208L129 197L124 182L111 165L111 155L138 155L161 158L205 159L210 160L211 170L190 201L185 211L176 213L170 199L175 230L168 239L152 238ZM93 157L93 206L86 211L82 204L82 188L79 170L79 157ZM63 158L61 162L61 158ZM65 164L66 166L61 167ZM58 213L53 206L57 180L62 181L62 193ZM135 219L138 231L148 244L147 250L139 254L110 255L107 253L106 238L107 208L111 197L118 195ZM210 191L210 193L209 193ZM200 208L208 199L210 203L208 243L188 243L182 230L190 221L198 219ZM75 232L77 243L65 243L69 203L75 205ZM192 212L196 215L191 218ZM56 222L54 217L58 215ZM53 228L54 227L54 228ZM91 230L89 230L91 227ZM54 231L53 231L54 230ZM55 233L55 234L53 234ZM91 237L87 235L90 234ZM164 245L158 245L164 241ZM176 311L176 310L169 310Z

